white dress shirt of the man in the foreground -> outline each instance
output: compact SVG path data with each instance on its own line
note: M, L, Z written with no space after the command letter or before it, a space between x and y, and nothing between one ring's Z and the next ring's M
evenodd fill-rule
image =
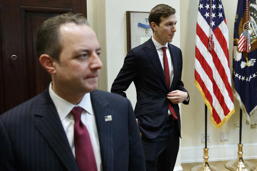
M90 93L86 93L84 97L81 99L81 101L79 102L79 104L77 105L71 104L66 100L62 99L61 97L59 97L57 94L55 94L55 92L52 90L52 83L50 83L50 86L49 86L49 94L54 102L54 105L61 119L64 131L67 135L74 157L75 157L74 118L71 113L71 110L73 109L73 107L76 107L76 106L80 106L84 109L81 113L81 121L86 126L90 136L97 170L101 171L102 161L101 161L101 153L100 153L100 144L99 144L95 116L94 116L91 99L90 99Z

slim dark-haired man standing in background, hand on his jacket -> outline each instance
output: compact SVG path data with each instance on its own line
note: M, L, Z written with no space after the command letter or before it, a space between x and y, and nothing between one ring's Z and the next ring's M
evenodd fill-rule
M176 32L176 11L160 4L149 15L153 37L130 50L115 78L111 92L126 97L136 86L135 114L142 133L147 170L173 170L179 149L178 103L189 103L181 81L182 53L171 45Z

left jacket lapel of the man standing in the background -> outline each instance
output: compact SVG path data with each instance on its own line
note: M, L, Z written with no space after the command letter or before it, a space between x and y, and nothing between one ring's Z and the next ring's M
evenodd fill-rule
M160 75L160 78L161 78L163 84L166 85L163 67L162 67L162 64L160 62L160 58L159 58L159 55L158 55L157 50L155 48L155 45L152 41L152 38L150 38L147 41L144 50L147 53L148 57L150 58L154 68L156 69L156 72Z

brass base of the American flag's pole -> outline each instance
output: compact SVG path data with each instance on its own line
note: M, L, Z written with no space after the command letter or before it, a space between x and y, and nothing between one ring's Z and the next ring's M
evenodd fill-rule
M194 166L193 168L191 168L191 171L219 171L219 169L213 165L209 165L209 162L208 162L208 149L209 148L203 148L203 163L202 165L197 165L197 166Z

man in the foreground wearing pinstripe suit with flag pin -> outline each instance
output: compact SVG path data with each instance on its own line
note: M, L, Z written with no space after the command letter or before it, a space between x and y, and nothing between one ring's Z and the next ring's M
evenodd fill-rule
M71 13L48 19L38 32L37 51L52 82L43 93L0 115L0 170L81 171L71 114L77 106L95 170L145 170L130 101L95 90L100 46L86 19Z

